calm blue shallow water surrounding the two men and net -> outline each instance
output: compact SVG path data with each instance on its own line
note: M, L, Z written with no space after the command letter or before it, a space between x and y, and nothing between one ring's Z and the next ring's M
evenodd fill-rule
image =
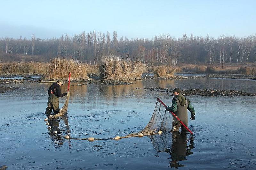
M193 136L164 132L150 137L107 140L143 129L154 111L156 97L171 105L172 96L145 90L146 87L256 92L255 80L199 78L135 82L116 86L73 83L68 114L52 121L52 130L43 121L51 84L11 84L22 87L0 94L0 166L7 165L8 169L256 168L255 96L188 96L196 110L196 120L189 121ZM64 100L65 97L60 98L60 106ZM58 135L53 135L53 130ZM67 140L63 138L66 134L106 140Z

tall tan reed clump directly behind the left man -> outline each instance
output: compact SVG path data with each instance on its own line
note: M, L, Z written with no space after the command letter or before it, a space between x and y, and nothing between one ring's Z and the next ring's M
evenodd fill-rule
M47 78L49 79L67 79L68 73L71 72L71 77L74 79L85 79L87 77L88 64L57 57L51 60L50 68L48 69Z

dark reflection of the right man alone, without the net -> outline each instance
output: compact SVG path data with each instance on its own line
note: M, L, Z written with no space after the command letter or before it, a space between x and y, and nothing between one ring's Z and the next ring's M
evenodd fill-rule
M190 139L190 145L187 146L187 131L172 133L172 150L171 150L171 167L184 166L179 164L181 160L187 160L186 156L192 155L191 150L194 148L193 137Z

